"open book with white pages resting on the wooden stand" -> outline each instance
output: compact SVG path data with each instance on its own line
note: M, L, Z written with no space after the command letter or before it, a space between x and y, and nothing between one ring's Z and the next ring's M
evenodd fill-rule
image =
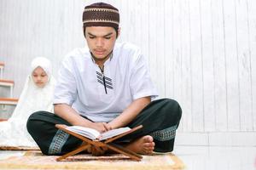
M78 133L88 139L92 140L105 140L110 139L114 136L117 136L122 133L126 133L131 130L130 127L119 127L113 130L109 130L105 133L100 133L96 131L96 129L89 128L89 127L80 127L80 126L70 126L66 127L67 130L72 131L73 133Z

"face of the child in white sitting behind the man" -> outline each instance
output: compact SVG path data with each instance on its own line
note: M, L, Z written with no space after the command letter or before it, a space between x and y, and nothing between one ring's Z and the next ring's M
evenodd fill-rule
M32 72L32 80L35 82L38 88L44 88L45 84L48 82L48 76L46 72L40 66L38 66Z

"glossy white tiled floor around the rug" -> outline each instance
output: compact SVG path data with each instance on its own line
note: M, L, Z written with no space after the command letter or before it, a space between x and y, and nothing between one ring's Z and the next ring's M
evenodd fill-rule
M22 153L2 150L0 159ZM187 170L256 170L256 147L176 146L173 153Z

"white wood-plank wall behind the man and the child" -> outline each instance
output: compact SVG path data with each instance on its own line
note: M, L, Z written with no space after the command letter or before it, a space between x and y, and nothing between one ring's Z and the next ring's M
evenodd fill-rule
M82 12L96 1L0 1L0 60L18 97L36 56L56 72L83 47ZM143 49L161 97L183 108L179 133L253 133L256 144L256 1L113 0L119 41Z

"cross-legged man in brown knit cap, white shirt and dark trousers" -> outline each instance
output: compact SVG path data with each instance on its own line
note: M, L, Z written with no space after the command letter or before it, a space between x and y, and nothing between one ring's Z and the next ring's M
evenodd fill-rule
M130 43L116 43L119 10L107 3L84 8L84 37L88 48L67 54L55 88L55 114L38 111L27 130L46 155L62 155L82 144L55 128L61 123L105 132L117 127L143 128L119 143L138 154L173 150L181 108L175 100L159 99L141 51ZM90 148L94 155L101 148Z

